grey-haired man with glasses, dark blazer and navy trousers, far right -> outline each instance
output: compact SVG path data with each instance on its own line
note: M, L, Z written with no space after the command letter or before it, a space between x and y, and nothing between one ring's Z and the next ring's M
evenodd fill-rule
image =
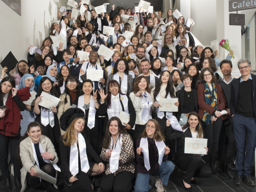
M242 180L248 186L255 186L251 180L251 165L256 144L256 76L251 74L251 62L240 59L237 63L240 78L231 82L230 113L233 121L237 155L235 168L236 185L242 185Z

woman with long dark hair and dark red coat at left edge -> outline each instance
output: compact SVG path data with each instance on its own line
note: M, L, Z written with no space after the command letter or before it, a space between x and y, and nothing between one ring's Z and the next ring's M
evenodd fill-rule
M8 153L13 157L14 164L14 183L17 189L21 189L21 165L17 162L17 147L19 146L21 111L26 109L23 101L29 99L30 87L23 89L15 88L14 78L7 76L1 81L0 89L0 105L6 106L8 109L0 110L0 170L3 176L3 186L6 191L12 191L10 173L8 170Z

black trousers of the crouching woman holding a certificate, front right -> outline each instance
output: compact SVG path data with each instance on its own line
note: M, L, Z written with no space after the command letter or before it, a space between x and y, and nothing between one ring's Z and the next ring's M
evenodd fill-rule
M175 162L180 170L186 171L183 180L187 184L190 184L193 176L211 177L211 168L202 160L200 155L184 154L182 156L175 156Z

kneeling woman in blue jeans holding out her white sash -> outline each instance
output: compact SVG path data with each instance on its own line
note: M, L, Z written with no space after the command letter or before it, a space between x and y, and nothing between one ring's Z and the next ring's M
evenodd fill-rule
M168 161L169 147L164 144L164 134L156 120L148 120L144 132L136 141L137 152L137 178L134 186L135 192L149 191L150 176L159 176L156 180L158 192L164 191L167 186L169 176L173 172L175 165ZM142 151L143 150L143 151Z

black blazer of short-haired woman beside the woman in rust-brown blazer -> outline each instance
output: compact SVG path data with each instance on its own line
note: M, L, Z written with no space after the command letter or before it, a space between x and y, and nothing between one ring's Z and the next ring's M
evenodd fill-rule
M195 91L195 89L191 89L194 100L195 100L195 105L196 105L196 111L198 113L198 103L197 103L197 91ZM178 122L180 122L180 116L182 114L182 109L184 106L184 87L182 87L182 89L180 89L179 91L176 92L176 97L178 98L178 101L180 102L180 105L178 105L178 112L175 112L175 116L178 120Z

